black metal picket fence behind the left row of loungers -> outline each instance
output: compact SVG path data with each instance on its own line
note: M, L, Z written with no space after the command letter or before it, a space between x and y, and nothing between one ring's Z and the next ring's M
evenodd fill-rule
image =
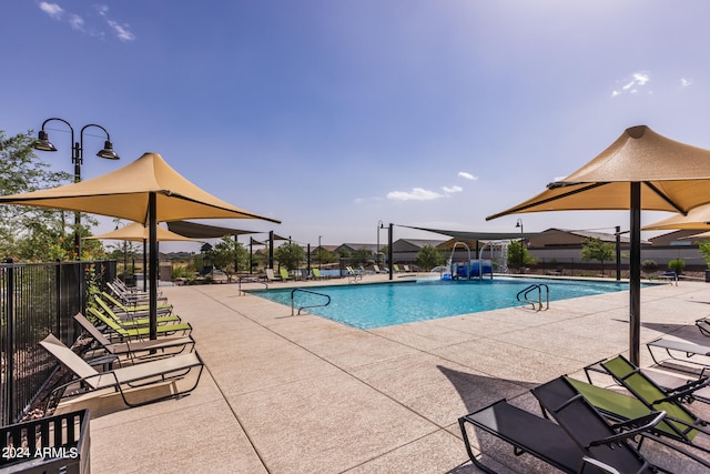
M0 264L0 424L18 422L31 407L55 361L39 346L49 333L71 345L73 315L85 310L90 282L115 278L115 261Z

